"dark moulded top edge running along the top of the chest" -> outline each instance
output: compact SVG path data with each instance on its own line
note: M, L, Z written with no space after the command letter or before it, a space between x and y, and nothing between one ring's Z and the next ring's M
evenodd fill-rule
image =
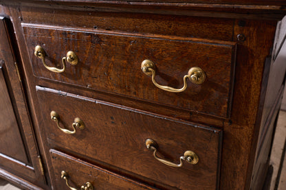
M237 1L236 1L237 2ZM274 2L274 1L272 1ZM280 20L286 12L285 5L257 3L221 4L221 3L177 3L162 1L3 1L5 5L21 5L33 8L51 8L85 10L87 12L129 12L162 15L203 16L232 19ZM34 10L33 10L34 11ZM75 19L75 18L73 18Z

